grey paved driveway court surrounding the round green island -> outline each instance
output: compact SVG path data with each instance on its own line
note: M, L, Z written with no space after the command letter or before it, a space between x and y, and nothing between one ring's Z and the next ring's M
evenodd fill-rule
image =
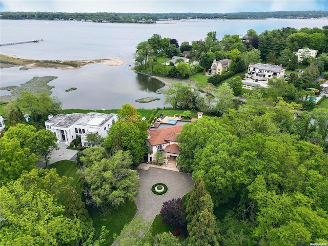
M151 220L159 214L163 202L172 198L179 198L187 194L194 187L194 182L191 180L191 174L179 173L175 171L152 168L148 170L138 169L140 177L140 193L137 194L136 205L138 211L136 216L142 215L144 219ZM155 183L165 183L168 187L168 192L163 195L155 195L151 189Z

